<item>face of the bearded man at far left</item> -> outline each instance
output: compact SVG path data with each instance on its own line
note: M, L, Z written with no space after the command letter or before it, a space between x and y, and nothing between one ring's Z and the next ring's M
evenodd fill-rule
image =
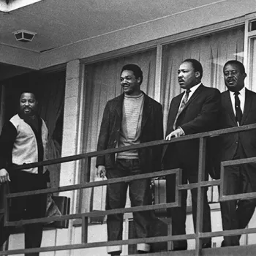
M34 94L25 92L20 95L20 111L27 116L34 116L37 112L37 100Z

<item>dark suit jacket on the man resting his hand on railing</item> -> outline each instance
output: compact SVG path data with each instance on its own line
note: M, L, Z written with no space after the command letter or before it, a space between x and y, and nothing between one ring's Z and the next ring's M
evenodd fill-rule
M184 93L174 97L170 102L166 135L173 131L173 123ZM176 127L181 127L185 135L208 132L217 129L220 108L220 92L201 84L187 102L184 110L178 116ZM164 150L165 151L165 150ZM210 154L208 147L207 157ZM199 140L187 140L171 143L167 146L164 156L165 167L181 167L197 172L199 157ZM206 162L206 164L208 161Z

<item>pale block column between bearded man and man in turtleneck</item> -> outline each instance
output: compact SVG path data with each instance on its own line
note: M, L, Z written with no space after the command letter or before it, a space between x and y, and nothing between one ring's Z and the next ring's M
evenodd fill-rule
M67 63L66 87L64 99L64 124L61 157L78 154L78 134L80 116L80 61ZM60 186L77 184L78 161L61 164ZM77 206L77 191L62 192L61 195L71 198L70 214L74 214ZM72 244L74 229L73 220L69 220L67 230L57 230L56 245ZM71 252L60 251L56 255L71 255Z

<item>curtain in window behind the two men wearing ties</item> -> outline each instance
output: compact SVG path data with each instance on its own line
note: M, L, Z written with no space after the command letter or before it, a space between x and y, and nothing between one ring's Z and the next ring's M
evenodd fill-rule
M165 45L162 52L161 103L166 130L170 101L181 93L178 85L178 67L184 59L197 59L203 66L202 82L205 86L225 91L223 67L226 61L236 59L243 62L244 26L209 34L205 37ZM217 188L208 189L208 200L217 201ZM189 199L189 204L191 204Z

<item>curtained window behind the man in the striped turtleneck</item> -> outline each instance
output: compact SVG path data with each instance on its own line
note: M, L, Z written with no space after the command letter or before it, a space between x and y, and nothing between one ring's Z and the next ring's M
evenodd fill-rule
M106 103L121 94L120 72L125 64L138 64L143 71L141 89L150 97L154 97L154 81L156 69L156 49L122 56L109 61L90 64L85 67L85 127L83 132L83 151L96 151L99 128ZM91 159L91 181L95 180L96 159ZM83 171L81 180L83 181ZM102 205L102 193L91 194L90 189L84 189L83 198L90 198L94 208ZM90 200L83 200L81 208L89 211ZM92 204L91 204L92 207Z

